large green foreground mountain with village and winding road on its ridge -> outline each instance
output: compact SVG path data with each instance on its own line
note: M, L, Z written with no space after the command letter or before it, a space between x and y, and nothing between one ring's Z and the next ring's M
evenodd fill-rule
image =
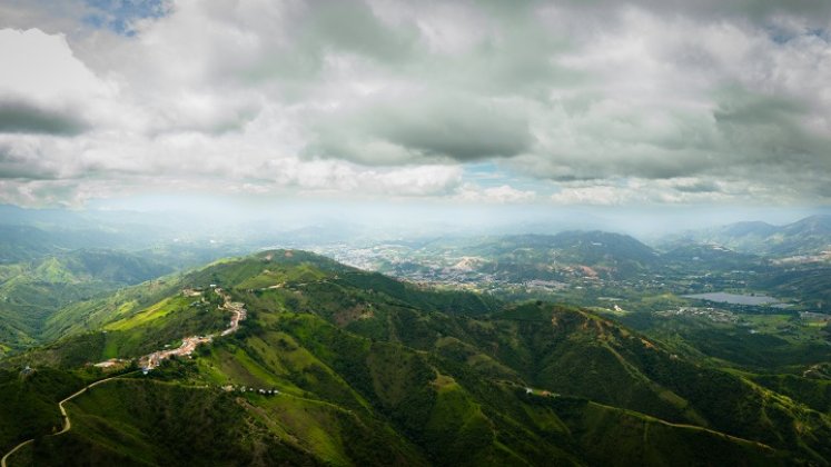
M641 251L646 260L650 250ZM248 310L238 331L146 376L116 370L110 375L122 376L67 404L69 433L37 437L12 461L831 460L828 407L791 397L799 382L721 370L586 309L425 288L297 250L217 261L75 308L63 317L85 325L70 327L70 336L0 361L14 381L6 397L33 384L14 372L27 364L68 375L61 390L44 396L59 400L103 377L107 370L87 361L216 334L227 326L222 294ZM10 427L0 449L31 436L13 428L29 410L21 407L0 410L0 425ZM37 420L51 433L53 419Z

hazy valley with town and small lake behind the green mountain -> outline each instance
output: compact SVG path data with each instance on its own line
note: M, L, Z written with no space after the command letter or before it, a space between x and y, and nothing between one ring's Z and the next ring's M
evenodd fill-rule
M794 223L813 229L810 245L815 247L800 251L829 247L815 237L815 226L824 225L818 219ZM823 232L827 239L831 236L829 229ZM823 309L831 299L827 261L783 262L776 256L696 241L671 237L652 248L629 236L595 231L359 249L339 245L316 251L428 287L506 301L581 304L675 341L687 352L716 360L731 356L719 365L738 360L753 370L773 365L775 370L799 371L797 361L831 357L831 327ZM790 241L792 248L800 245ZM782 358L775 356L780 351Z

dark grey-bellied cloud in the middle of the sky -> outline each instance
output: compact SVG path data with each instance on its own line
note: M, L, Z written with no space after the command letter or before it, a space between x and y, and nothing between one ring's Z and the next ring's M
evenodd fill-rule
M368 165L516 156L531 147L527 122L510 103L459 96L397 95L315 116L306 153Z

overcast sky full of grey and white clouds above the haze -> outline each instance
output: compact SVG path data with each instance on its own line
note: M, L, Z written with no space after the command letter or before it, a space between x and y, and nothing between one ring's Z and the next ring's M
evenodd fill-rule
M831 1L0 1L0 202L831 205Z

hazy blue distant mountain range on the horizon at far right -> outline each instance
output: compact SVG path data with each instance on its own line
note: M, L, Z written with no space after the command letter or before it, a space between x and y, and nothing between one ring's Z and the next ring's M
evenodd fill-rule
M831 215L817 215L785 226L738 222L687 232L687 241L716 244L754 255L789 257L815 255L831 249Z

